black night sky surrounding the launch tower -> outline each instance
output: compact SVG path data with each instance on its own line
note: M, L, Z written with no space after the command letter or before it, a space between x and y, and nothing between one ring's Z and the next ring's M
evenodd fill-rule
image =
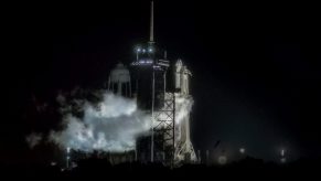
M45 102L58 89L97 87L148 39L149 1L36 6L19 4L6 21L1 159L26 157L25 134L55 124L21 118L31 95ZM196 149L221 140L259 158L281 147L292 157L321 156L318 17L313 4L156 1L158 45L193 72Z

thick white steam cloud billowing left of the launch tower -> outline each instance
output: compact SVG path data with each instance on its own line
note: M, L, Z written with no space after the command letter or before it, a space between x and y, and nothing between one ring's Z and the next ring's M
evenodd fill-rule
M150 129L150 115L137 108L133 99L105 93L98 106L85 102L78 118L67 114L63 118L63 130L52 131L50 140L61 148L85 152L132 150L140 134Z

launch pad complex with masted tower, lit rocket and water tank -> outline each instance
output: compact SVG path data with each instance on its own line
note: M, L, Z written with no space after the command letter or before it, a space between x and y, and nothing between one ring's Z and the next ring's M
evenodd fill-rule
M137 140L136 159L151 162L194 162L196 155L190 138L190 113L178 123L181 99L190 95L191 72L181 60L170 62L158 49L153 36L153 2L150 10L150 35L137 46L130 65L117 64L111 70L108 89L116 95L135 98L138 107L151 115L151 129Z

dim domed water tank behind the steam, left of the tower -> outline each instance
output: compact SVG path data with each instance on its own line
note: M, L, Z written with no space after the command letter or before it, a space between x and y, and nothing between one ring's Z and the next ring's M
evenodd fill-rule
M108 89L117 95L131 97L130 74L122 63L118 63L116 67L111 70Z

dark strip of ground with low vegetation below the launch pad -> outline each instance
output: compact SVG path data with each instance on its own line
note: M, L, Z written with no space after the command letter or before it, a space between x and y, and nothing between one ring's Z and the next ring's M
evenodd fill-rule
M170 179L174 178L257 178L259 180L283 177L296 178L320 177L318 175L319 160L301 159L288 164L268 163L263 160L246 158L242 161L227 166L185 164L180 168L164 167L160 163L138 162L122 163L118 166L109 164L105 159L87 159L78 162L78 167L72 170L64 170L53 166L28 166L28 167L6 167L1 169L9 175L17 177L44 177L44 178L138 178L145 179Z

